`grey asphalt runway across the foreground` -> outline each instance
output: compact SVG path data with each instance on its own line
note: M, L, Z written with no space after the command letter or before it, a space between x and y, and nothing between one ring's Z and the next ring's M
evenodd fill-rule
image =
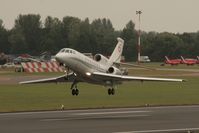
M1 133L199 131L199 106L1 113Z

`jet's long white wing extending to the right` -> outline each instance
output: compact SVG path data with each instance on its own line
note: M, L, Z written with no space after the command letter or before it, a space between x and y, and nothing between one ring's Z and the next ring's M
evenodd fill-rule
M149 77L137 77L137 76L126 76L126 75L115 75L110 73L93 72L93 76L102 78L104 80L115 80L115 81L160 81L160 82L183 82L183 79L170 79L170 78L149 78Z

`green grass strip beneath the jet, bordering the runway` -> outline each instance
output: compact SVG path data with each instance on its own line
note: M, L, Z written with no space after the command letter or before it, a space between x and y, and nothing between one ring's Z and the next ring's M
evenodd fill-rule
M78 84L72 96L70 84L1 85L0 112L199 104L199 77L185 83L128 82L108 96L102 86Z

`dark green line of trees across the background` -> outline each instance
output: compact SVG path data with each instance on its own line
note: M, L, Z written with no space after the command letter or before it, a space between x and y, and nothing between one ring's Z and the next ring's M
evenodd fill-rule
M117 43L116 38L125 41L123 55L127 61L137 58L138 32L129 21L122 30L115 30L109 19L66 16L62 20L46 17L44 23L39 14L19 15L12 29L8 30L0 19L0 53L39 55L44 51L55 54L61 48L70 47L85 53L110 55ZM199 55L199 32L158 33L141 32L141 55L152 61L162 61L164 56L196 57Z

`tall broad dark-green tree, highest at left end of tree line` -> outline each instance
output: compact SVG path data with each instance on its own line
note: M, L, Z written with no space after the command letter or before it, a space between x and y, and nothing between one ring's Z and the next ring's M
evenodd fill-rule
M14 35L11 35L11 40L9 40L11 45L13 46L12 52L18 52L18 50L14 48L23 48L23 45L26 46L26 51L24 51L25 49L22 50L24 52L33 55L39 54L41 52L40 42L42 24L40 19L40 15L34 14L18 16L18 18L15 20L14 28L12 29L12 33ZM15 39L12 40L13 38ZM22 44L20 44L21 41L23 42Z

